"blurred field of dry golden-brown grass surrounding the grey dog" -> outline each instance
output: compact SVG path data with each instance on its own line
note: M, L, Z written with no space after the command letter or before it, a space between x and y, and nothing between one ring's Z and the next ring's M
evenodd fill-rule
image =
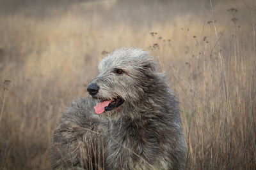
M0 0L0 169L50 169L102 57L143 48L180 99L187 169L256 169L254 0Z

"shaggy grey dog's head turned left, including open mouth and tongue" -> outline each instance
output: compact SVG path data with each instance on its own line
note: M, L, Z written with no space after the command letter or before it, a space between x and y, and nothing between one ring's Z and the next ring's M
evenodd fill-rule
M109 54L100 62L100 74L87 89L99 100L95 112L100 114L138 103L155 71L156 62L143 50L121 48Z

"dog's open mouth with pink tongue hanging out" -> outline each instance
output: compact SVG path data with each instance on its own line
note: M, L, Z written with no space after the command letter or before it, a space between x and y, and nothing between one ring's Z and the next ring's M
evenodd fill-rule
M99 103L96 104L94 110L97 114L103 113L104 111L110 111L114 108L121 106L124 103L124 99L121 97L116 97L112 100L100 100Z

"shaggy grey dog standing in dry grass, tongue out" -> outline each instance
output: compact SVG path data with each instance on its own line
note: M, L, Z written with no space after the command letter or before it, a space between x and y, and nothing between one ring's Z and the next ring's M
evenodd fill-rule
M156 61L120 48L99 72L54 131L52 169L184 169L179 102Z

